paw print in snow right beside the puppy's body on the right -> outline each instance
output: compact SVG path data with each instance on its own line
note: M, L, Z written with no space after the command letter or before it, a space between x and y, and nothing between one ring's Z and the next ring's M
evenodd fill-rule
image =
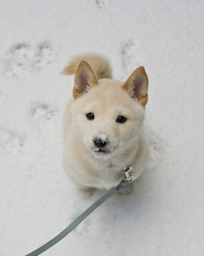
M163 146L160 138L155 134L148 136L149 149L150 149L150 162L149 167L154 167L162 158Z

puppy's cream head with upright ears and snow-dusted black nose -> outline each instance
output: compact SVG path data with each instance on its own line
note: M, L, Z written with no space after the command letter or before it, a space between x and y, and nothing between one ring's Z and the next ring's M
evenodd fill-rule
M79 139L96 158L120 157L131 150L142 128L147 90L143 67L122 83L98 81L89 64L80 62L73 88L73 122Z

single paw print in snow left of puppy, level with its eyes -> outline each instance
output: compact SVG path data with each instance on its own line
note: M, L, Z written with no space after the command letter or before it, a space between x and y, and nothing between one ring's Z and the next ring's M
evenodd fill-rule
M40 121L51 120L57 113L57 110L47 104L36 103L31 108L33 118Z

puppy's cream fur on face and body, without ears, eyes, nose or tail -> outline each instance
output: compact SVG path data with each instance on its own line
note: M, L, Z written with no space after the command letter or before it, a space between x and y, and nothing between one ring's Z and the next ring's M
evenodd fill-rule
M64 169L78 187L82 197L89 197L94 188L117 185L127 165L133 166L133 179L146 167L149 159L144 134L144 107L122 89L124 83L100 79L98 85L81 97L71 99L64 115ZM87 113L94 113L89 120ZM118 123L118 116L126 122ZM109 139L99 152L93 138Z

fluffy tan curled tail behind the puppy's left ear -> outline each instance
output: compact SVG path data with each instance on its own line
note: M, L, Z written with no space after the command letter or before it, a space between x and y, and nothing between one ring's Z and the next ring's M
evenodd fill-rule
M96 54L79 54L74 56L62 70L63 75L74 75L80 61L86 61L93 69L97 79L112 79L112 68L109 59Z

